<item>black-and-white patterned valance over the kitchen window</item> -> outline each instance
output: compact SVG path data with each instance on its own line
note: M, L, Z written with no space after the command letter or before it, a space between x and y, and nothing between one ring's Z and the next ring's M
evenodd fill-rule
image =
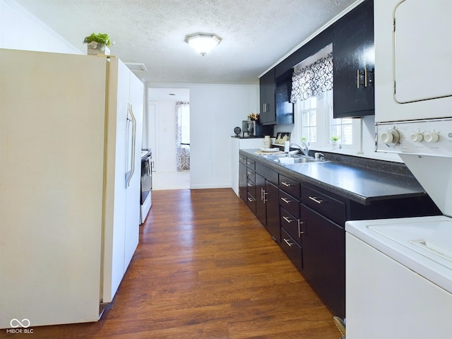
M333 89L333 53L329 53L314 64L296 71L292 75L290 102L317 97Z

